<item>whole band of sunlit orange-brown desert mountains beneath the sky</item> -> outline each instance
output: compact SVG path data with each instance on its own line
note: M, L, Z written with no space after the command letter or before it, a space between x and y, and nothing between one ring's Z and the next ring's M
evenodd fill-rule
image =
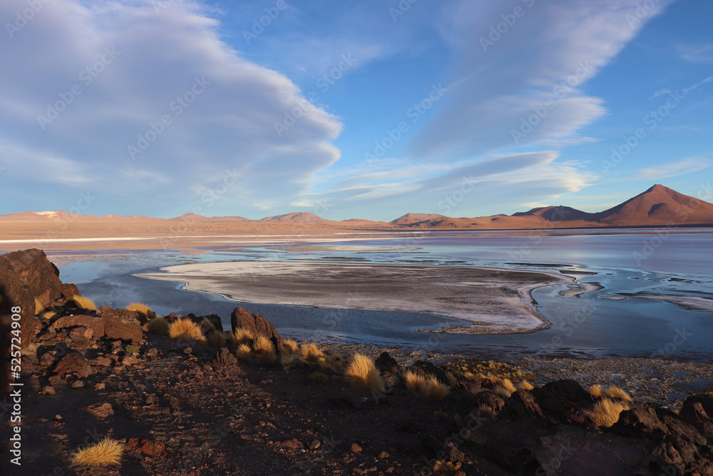
M187 213L176 218L150 218L147 216L79 215L66 211L43 211L10 213L0 216L3 222L51 223L55 221L81 221L84 226L112 223L134 225L182 223L219 228L220 224L237 228L257 230L261 225L274 228L292 225L299 228L374 228L374 229L532 229L532 228L593 228L630 226L702 225L713 226L713 204L678 193L662 185L630 198L624 203L598 213L588 213L569 206L547 206L513 213L512 215L481 216L476 218L452 218L435 213L406 213L389 223L352 218L330 221L314 213L296 212L268 216L261 220L249 220L241 216L204 217ZM215 224L210 226L210 224ZM83 226L83 228L85 228ZM165 226L165 225L163 225ZM235 227L233 227L235 228ZM225 228L220 228L225 230Z

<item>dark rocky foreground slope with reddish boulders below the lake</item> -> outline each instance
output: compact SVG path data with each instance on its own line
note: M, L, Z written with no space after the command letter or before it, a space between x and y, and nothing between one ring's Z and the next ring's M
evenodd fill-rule
M219 316L166 316L200 330L176 339L150 310L88 309L39 250L0 257L0 283L4 336L12 307L32 310L21 322L21 466L5 397L1 474L713 475L710 393L674 412L504 363L388 353L368 390L350 385L349 355L295 352L242 308L227 333ZM604 401L620 405L610 422L596 411ZM118 464L73 467L107 436L125 447Z

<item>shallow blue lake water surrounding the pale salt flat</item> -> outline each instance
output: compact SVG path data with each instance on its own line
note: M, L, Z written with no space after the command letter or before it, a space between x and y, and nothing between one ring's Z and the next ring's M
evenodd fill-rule
M135 300L158 313L217 313L230 327L230 312L244 305L265 315L281 334L313 340L399 345L437 351L540 353L540 355L713 355L713 313L630 296L635 293L713 299L713 232L705 228L594 231L473 231L322 236L312 242L271 243L225 238L224 243L183 250L48 251L65 282L77 283L98 305ZM134 273L166 265L225 260L310 260L484 266L572 275L603 288L563 297L566 285L533 291L552 326L518 335L443 335L448 318L416 313L331 310L240 304L216 295L181 290L180 283L146 280ZM622 296L622 293L624 294ZM344 295L345 307L349 293Z

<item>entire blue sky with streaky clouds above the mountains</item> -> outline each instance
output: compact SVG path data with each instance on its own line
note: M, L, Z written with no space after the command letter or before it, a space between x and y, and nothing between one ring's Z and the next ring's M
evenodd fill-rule
M709 0L4 0L0 213L713 201Z

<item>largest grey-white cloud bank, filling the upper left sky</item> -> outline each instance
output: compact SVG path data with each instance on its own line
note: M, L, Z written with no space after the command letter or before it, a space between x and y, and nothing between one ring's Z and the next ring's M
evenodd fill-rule
M0 17L26 8L25 0L3 1ZM240 177L217 202L225 208L299 193L339 158L329 141L342 124L286 76L225 44L214 13L193 1L158 14L149 0L45 4L0 49L0 62L14 65L0 76L0 141L48 169L46 181L110 181L95 186L126 210L144 208L150 196L168 214L195 206L211 214L200 193L220 186L225 171ZM63 111L43 129L38 116L55 103ZM295 107L302 117L279 137L275 122ZM128 146L138 149L134 157ZM22 195L26 184L17 188Z

